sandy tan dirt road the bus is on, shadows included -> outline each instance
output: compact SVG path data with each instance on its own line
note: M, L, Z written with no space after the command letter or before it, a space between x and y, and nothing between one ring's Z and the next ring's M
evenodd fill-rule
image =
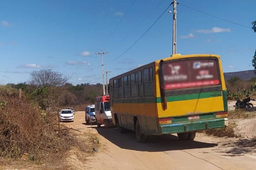
M175 135L151 137L138 143L133 132L120 134L114 128L86 125L84 112L65 123L82 132L99 134L103 148L85 160L71 159L75 169L256 169L256 141L243 138L217 138L198 133L194 141L179 141ZM83 135L83 133L81 133Z

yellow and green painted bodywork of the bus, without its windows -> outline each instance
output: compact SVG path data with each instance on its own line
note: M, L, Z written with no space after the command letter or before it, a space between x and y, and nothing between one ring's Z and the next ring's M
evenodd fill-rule
M134 130L136 120L141 125L141 131L146 135L160 135L168 133L183 133L209 128L221 128L228 124L227 119L227 96L222 64L219 55L193 54L173 55L163 58L162 61L186 59L186 58L213 57L218 61L219 80L221 85L217 90L191 92L189 94L167 95L167 109L163 108L163 101L159 83L159 63L161 60L141 66L124 74L110 79L111 105L113 122L114 116L119 120L120 126ZM139 72L153 65L154 97L137 97L113 99L114 80L124 77L129 73ZM142 83L143 84L143 83ZM217 117L223 114L224 117ZM166 123L160 121L168 120Z

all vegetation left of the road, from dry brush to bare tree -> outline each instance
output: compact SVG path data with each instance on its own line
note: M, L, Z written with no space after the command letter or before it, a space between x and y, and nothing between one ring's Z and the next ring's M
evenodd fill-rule
M100 85L73 86L68 79L52 70L40 70L30 73L28 83L0 86L0 166L3 158L56 166L72 147L85 153L98 147L97 137L85 134L79 139L72 129L58 123L57 109L82 107L101 92Z

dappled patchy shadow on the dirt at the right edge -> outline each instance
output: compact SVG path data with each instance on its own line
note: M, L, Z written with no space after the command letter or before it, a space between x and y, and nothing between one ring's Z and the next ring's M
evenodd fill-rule
M225 147L219 153L225 153L225 156L242 156L244 154L256 153L256 139L239 139L234 142L228 142L219 147Z

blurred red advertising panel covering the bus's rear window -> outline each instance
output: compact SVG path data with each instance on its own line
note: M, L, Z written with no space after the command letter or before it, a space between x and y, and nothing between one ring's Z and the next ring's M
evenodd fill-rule
M220 83L215 58L179 60L163 63L165 89L211 86Z

